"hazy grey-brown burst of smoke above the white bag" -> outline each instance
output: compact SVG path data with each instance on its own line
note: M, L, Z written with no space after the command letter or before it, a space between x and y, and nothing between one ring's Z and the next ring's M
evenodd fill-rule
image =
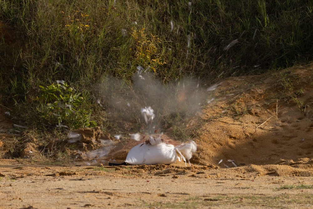
M194 116L206 102L206 91L199 87L196 79L187 77L164 85L141 66L137 69L132 85L107 77L98 88L97 96L106 104L108 112L124 121L139 118L146 122L147 131L154 132L162 129L160 124L164 117L179 115L186 119Z

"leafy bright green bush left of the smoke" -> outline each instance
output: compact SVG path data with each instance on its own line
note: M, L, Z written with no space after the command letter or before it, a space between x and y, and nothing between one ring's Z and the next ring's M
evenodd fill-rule
M57 127L71 127L74 129L93 127L90 121L90 110L84 107L84 98L81 93L70 87L64 81L58 81L47 87L39 86L41 96L37 98L40 105L37 107L41 118Z

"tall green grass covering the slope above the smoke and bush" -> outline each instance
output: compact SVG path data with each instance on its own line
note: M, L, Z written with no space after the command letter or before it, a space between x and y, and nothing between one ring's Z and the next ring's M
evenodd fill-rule
M25 119L38 86L55 80L83 91L92 110L93 85L108 74L131 82L137 65L153 65L150 71L167 82L307 63L312 11L313 2L304 0L207 0L191 7L181 0L2 0L0 21L11 27L15 43L0 42L1 96L26 108L17 116ZM138 55L153 47L148 57Z

